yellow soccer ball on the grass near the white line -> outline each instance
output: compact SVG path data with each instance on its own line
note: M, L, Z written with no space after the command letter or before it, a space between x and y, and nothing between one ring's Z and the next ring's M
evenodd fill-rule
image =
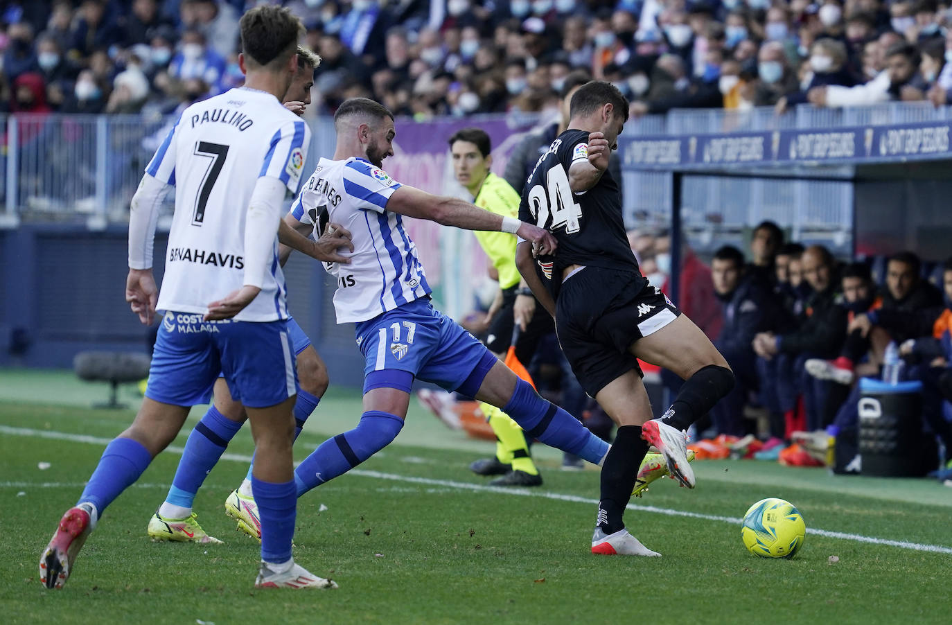
M789 559L803 547L805 534L800 511L783 499L761 499L744 514L741 536L744 547L754 555Z

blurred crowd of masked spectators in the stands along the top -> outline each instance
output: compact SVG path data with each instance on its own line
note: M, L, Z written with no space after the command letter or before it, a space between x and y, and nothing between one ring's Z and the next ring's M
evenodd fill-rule
M169 113L240 84L238 17L262 0L11 0L6 111ZM369 96L403 115L554 108L565 76L634 114L778 112L952 96L949 0L285 0L324 57L316 112Z

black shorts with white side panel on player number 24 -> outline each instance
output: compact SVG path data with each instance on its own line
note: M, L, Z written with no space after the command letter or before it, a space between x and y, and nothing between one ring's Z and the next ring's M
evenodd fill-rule
M562 351L592 397L632 369L641 374L628 352L631 344L681 314L641 275L601 267L585 267L565 280L555 308Z

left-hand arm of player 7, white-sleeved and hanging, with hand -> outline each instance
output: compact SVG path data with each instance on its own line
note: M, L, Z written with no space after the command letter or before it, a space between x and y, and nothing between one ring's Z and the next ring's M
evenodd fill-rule
M152 248L159 207L171 185L149 173L142 176L139 188L129 205L129 275L126 278L126 301L139 321L149 325L155 318L159 290L152 276Z

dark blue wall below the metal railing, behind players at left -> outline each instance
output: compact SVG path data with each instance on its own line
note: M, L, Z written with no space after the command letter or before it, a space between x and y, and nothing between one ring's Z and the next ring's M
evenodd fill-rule
M0 231L0 366L71 367L73 356L86 350L148 353L153 330L125 300L127 245L122 228L24 224ZM157 280L166 245L167 235L157 235ZM295 255L285 274L290 310L332 364L331 382L359 386L363 362L353 325L334 322L326 272Z

